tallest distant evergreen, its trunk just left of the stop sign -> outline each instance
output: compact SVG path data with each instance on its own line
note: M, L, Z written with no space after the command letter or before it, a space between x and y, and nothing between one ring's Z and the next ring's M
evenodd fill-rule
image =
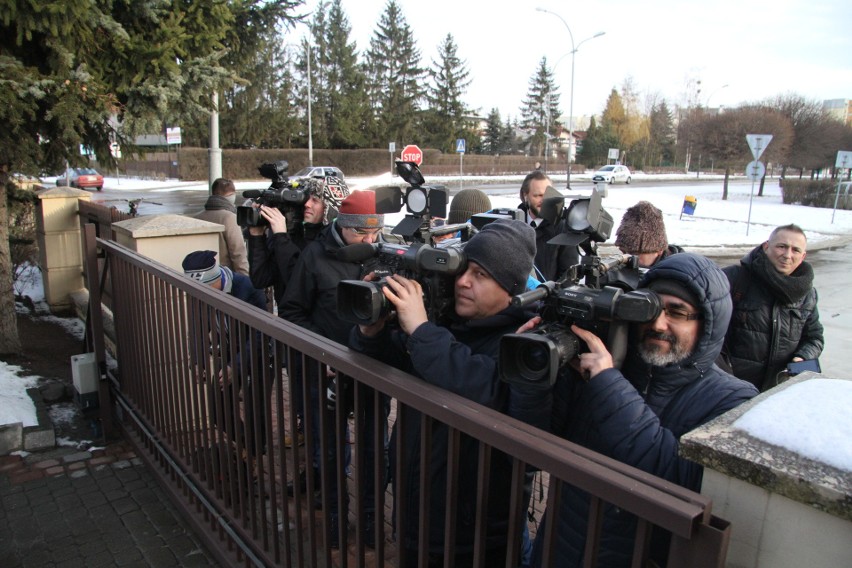
M367 94L373 120L371 143L418 142L416 130L424 96L423 69L410 26L396 0L388 0L367 51Z

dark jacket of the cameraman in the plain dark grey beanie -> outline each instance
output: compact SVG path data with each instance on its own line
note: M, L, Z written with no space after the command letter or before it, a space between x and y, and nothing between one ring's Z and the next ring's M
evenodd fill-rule
M367 353L399 369L407 371L424 381L454 392L489 408L507 413L509 407L526 409L540 416L540 408L522 401L524 393L515 392L501 382L497 374L500 337L514 333L527 322L530 313L519 308L507 308L489 318L457 321L449 328L431 322L418 327L409 337L399 329L385 328L375 337L363 336L358 328L352 332L351 347ZM529 420L530 416L515 416ZM395 455L396 436L403 435L403 454ZM406 476L406 492L399 494L398 481L394 480L394 498L405 503L406 524L398 533L402 546L408 550L417 548L418 511L420 510L420 413L409 409L406 414L406 429L401 434L394 428L391 441L392 469L396 460L401 460L403 475ZM447 476L447 427L439 422L432 424L431 432L429 542L430 552L440 553L444 541L444 516L446 512ZM479 444L476 440L461 436L458 464L458 508L456 527L456 551L473 550L476 520L476 471ZM508 539L508 512L511 496L512 468L510 459L494 450L489 467L489 497L486 548L505 547ZM527 496L528 497L528 496ZM520 535L515 535L520 538Z

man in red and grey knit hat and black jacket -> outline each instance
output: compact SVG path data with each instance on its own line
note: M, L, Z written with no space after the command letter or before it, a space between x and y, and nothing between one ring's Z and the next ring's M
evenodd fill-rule
M299 261L296 263L293 275L287 284L287 290L284 292L281 306L279 306L279 315L305 329L346 345L353 324L341 319L338 315L337 285L341 280L359 280L366 274L361 264L338 259L337 251L347 245L374 243L380 240L383 227L384 215L376 213L376 194L372 191L353 191L350 193L340 204L337 218L320 232L316 240L308 243L299 256ZM324 457L322 455L319 414L328 411L325 403L326 388L324 387L328 379L324 379L320 373L325 371L328 374L333 374L333 372L330 370L321 371L320 367L324 366L306 365L304 379L299 376L295 377L295 380L297 382L304 380L309 386L311 403L314 408L314 420L310 430L314 446L313 475L316 482L328 482L330 491L327 498L331 521L331 546L338 548L341 542L339 536L341 526L343 532L346 531L345 519L348 496L345 487L341 488L341 491L338 491L337 487L337 453L335 448L339 442L332 427L327 429L328 436L324 442L326 455ZM372 399L373 397L367 398ZM389 401L383 401L381 410L384 413L386 424ZM367 412L372 412L372 409L368 409ZM372 480L373 452L377 448L371 443L375 436L369 435L369 430L372 428L374 420L367 416L364 417L364 422L368 431L368 435L365 435L367 443L363 448L367 464L364 479ZM327 422L327 424L331 423L332 420ZM346 461L348 462L348 459ZM344 467L347 466L348 463L344 464ZM304 490L304 482L306 482L305 479L302 480L303 485L299 489ZM364 522L365 538L368 545L374 544L370 539L371 534L375 534L371 530L372 523L375 521L375 499L373 498L375 490L374 484L368 483L365 502L367 518ZM295 492L295 487L292 487L290 491Z

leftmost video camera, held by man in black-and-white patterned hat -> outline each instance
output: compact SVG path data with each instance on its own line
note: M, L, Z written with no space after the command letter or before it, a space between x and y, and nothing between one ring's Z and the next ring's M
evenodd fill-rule
M306 187L298 182L291 182L287 176L290 164L286 160L262 164L257 171L265 178L271 179L269 189L250 189L243 192L243 197L251 199L255 204L276 207L287 219L287 225L292 226L301 220L305 203L310 197ZM237 224L241 227L262 227L268 222L260 214L260 209L251 205L237 207Z

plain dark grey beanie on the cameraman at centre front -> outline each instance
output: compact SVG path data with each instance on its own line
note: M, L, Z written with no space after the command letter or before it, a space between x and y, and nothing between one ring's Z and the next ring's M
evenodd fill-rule
M497 219L485 225L464 247L464 254L509 294L526 289L535 257L535 229L515 219Z

